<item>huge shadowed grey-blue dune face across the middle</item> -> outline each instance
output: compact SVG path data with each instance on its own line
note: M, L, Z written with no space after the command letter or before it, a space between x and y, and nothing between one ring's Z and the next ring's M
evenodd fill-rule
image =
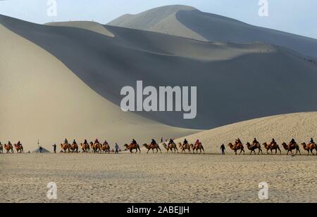
M277 46L208 43L111 26L116 37L107 37L5 16L0 23L54 55L116 105L120 89L137 80L144 86L197 86L196 119L183 119L183 112L138 113L163 124L211 129L317 109L317 65Z

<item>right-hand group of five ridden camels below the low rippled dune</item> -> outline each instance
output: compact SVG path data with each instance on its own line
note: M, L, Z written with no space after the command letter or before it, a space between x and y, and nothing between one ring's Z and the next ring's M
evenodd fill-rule
M256 140L256 138L254 138L252 145L250 143L246 143L246 145L247 145L247 148L251 151L250 154L252 154L253 152L254 152L254 154L256 154L256 150L259 150L258 154L260 154L260 152L261 152L261 154L263 154L261 145ZM270 154L270 152L271 152L271 154L273 154L273 151L275 151L274 154L278 154L278 152L280 154L282 154L282 151L280 150L280 146L278 145L278 143L275 142L274 138L272 139L271 142L263 143L262 145L266 150L266 154ZM239 154L241 154L242 152L244 154L244 146L242 145L240 138L237 138L237 140L235 140L234 145L232 143L229 143L228 146L230 147L231 150L233 150L235 152L236 155L237 155L238 150L240 150ZM313 153L313 150L316 150L316 155L317 155L317 145L313 141L313 138L311 138L310 143L308 143L307 145L306 145L306 143L302 143L302 146L303 146L304 150L306 150L308 152L308 155L310 153L315 155ZM282 147L284 147L285 151L287 151L286 154L289 154L290 152L292 155L298 154L298 153L302 154L301 150L299 149L299 145L295 142L294 138L290 141L290 143L288 145L286 143L282 143ZM296 153L293 153L293 150L296 150Z

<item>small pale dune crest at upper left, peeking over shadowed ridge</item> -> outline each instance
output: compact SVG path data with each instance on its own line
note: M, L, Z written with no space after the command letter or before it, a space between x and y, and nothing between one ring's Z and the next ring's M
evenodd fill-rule
M89 22L89 21L48 22L45 25L50 25L55 27L75 27L80 29L87 29L92 32L104 34L108 37L114 37L114 35L108 29L106 29L106 27L104 27L98 22Z

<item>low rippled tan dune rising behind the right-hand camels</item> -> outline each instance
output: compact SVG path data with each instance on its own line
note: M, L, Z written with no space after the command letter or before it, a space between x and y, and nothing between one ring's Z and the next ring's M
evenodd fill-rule
M272 138L275 138L281 148L283 142L288 144L292 138L294 138L297 143L309 143L311 138L317 140L316 129L317 112L308 112L243 121L222 126L217 129L203 131L192 136L186 136L186 138L191 143L199 138L202 143L204 143L207 152L219 153L221 144L225 143L225 145L228 145L228 143L233 143L236 138L240 138L242 143L251 143L254 137L256 137L260 143L270 142ZM180 142L182 140L184 140L184 138L175 141ZM229 152L232 152L228 147L227 149ZM282 152L285 153L284 150L282 150ZM249 154L249 150L247 150L246 153ZM307 154L304 150L302 150L302 153Z

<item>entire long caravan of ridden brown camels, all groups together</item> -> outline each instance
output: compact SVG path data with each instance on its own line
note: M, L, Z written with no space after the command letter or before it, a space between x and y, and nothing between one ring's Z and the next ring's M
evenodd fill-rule
M161 143L163 147L166 149L167 153L193 153L193 154L201 154L205 153L204 146L202 143L197 140L194 144L188 143L188 141L185 139L183 143L176 143L173 139L170 139L169 141L166 140L166 143ZM264 151L266 150L266 154L282 154L282 151L280 150L280 146L278 143L275 142L274 138L271 140L271 142L268 143L259 143L256 138L254 138L252 143L246 143L245 144L247 149L250 151L249 154L263 154L262 147L264 147ZM317 144L313 141L313 138L311 138L311 141L309 143L301 143L304 150L307 151L307 154L317 155ZM159 146L159 143L156 143L154 139L151 140L151 143L144 144L143 145L146 150L147 154L152 151L152 153L162 153L161 147ZM235 155L238 154L245 154L244 151L244 145L242 144L242 141L240 138L237 138L234 143L228 143L228 146L230 147L230 150L235 152ZM141 153L140 146L137 144L135 139L132 140L131 143L124 145L125 150L130 151L130 153ZM224 146L223 146L224 147ZM286 154L291 153L294 154L302 154L299 145L295 142L294 139L290 141L290 143L282 143L282 147L287 152ZM88 143L87 140L85 140L83 143L80 143L80 145L77 145L76 141L73 140L73 143L68 143L68 140L65 139L64 143L61 143L61 152L63 153L76 153L76 152L82 153L110 153L114 152L114 150L111 150L110 145L105 140L104 143L99 143L99 140L96 139L94 142ZM20 143L20 141L14 145L11 144L9 141L8 144L2 145L0 143L0 154L6 152L6 153L14 153L14 149L17 153L23 153L23 145ZM116 150L121 151L120 147L116 145ZM135 150L135 152L134 152ZM156 152L154 152L156 150ZM295 151L296 152L293 152ZM314 151L315 150L315 151Z

